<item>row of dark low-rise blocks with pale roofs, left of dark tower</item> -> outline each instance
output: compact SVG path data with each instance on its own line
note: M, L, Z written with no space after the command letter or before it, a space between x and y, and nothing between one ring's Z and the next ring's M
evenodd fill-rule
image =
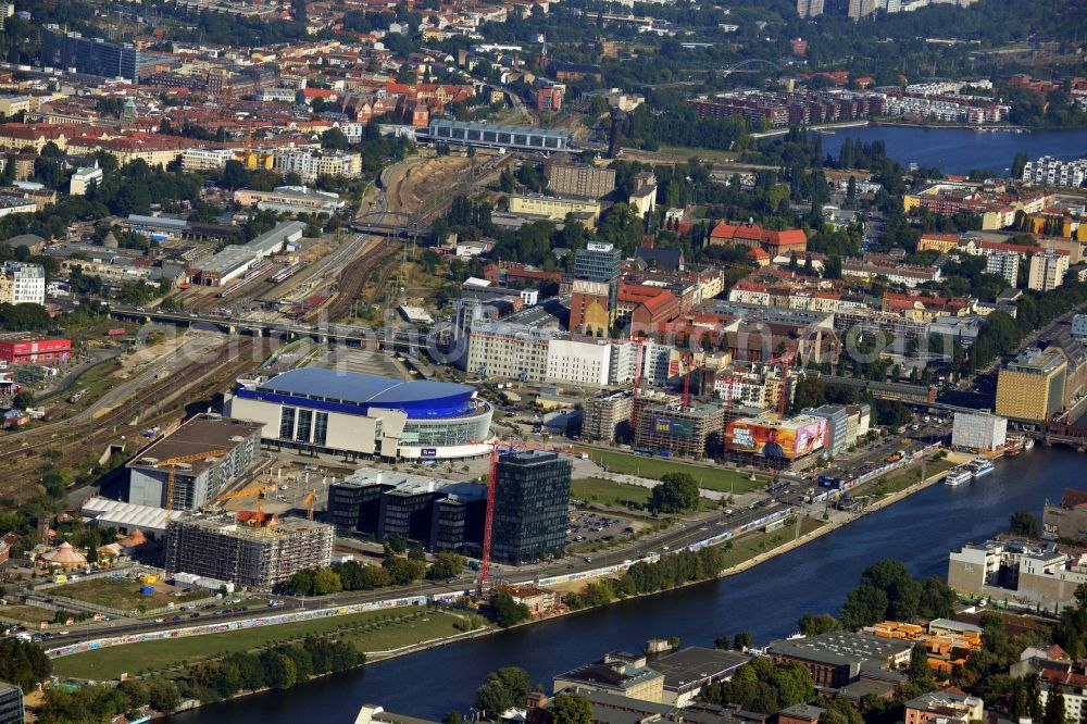
M385 540L398 535L432 551L478 550L487 487L359 470L328 486L328 519L337 528Z

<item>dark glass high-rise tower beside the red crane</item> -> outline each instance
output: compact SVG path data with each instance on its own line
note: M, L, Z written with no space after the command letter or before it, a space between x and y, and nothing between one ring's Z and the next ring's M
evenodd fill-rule
M520 565L561 554L570 515L569 458L542 450L499 454L491 558Z

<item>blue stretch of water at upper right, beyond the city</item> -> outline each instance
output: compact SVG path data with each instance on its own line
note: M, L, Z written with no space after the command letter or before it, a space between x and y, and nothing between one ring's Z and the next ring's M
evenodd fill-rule
M1007 173L1020 151L1030 159L1078 159L1087 152L1087 129L1013 134L903 126L841 128L823 135L823 150L838 155L847 138L865 143L882 140L887 145L887 154L903 166L935 166L946 174L966 174L974 168Z

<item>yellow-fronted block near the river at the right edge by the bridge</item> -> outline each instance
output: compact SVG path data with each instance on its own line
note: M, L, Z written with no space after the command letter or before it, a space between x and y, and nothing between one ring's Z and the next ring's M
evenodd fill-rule
M1064 353L1030 347L1004 365L997 376L997 414L1041 422L1064 409Z

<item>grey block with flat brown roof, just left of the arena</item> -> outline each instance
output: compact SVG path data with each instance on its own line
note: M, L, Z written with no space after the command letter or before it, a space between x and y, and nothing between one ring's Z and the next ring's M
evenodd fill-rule
M128 462L128 502L167 508L174 477L173 510L197 510L257 463L260 423L199 414Z

